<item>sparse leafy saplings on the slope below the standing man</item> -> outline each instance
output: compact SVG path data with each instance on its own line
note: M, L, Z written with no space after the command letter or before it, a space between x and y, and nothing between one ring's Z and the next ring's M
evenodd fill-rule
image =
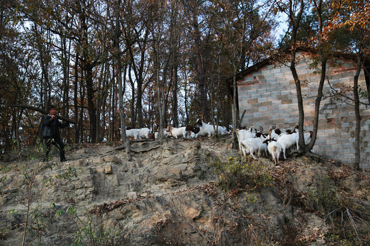
M23 165L21 168L7 167L1 165L1 184L3 184L3 189L7 189L10 197L12 197L18 204L24 207L24 210L20 213L21 210L10 210L8 215L14 217L21 217L24 224L23 231L23 242L22 245L27 243L32 245L32 243L38 242L38 245L41 244L41 238L45 234L45 231L48 229L50 224L53 222L53 219L58 217L60 214L59 211L56 211L56 216L53 216L55 211L55 206L53 204L50 207L42 206L38 201L40 196L45 193L53 182L51 177L44 178L43 180L38 180L36 176L42 174L42 171L45 168L53 169L54 164L47 165L42 163L40 160L41 156L44 154L44 147L42 144L36 146L33 150L17 150L15 148L14 152L18 152L18 156L26 156L27 164ZM13 180L8 179L10 172L21 172L20 177L23 177L23 180ZM64 176L59 178L69 178L73 174L73 169L67 170ZM58 177L57 177L58 178ZM14 183L18 184L18 187L14 188ZM13 192L14 191L14 192ZM7 228L1 228L2 236L6 235L8 231Z

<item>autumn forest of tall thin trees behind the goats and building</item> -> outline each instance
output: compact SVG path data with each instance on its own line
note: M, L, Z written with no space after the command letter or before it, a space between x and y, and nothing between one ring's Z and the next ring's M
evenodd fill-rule
M282 49L292 64L298 46L317 51L323 82L333 52L366 73L369 16L364 0L3 0L0 153L38 143L49 105L75 122L67 143L197 118L235 128L236 74ZM370 98L357 88L355 105Z

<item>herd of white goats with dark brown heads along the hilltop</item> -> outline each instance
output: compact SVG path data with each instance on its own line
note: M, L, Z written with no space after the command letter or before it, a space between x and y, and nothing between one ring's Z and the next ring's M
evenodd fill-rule
M218 126L217 129L219 135L230 135L230 132L223 126ZM157 139L158 131L151 131L149 128L127 129L126 135L134 139ZM170 125L163 130L163 135L164 137L175 138L210 137L214 135L214 126L198 119L195 127L175 128ZM269 133L263 133L262 126L260 126L260 130L257 130L254 126L251 126L251 128L243 127L236 130L236 136L238 137L239 150L244 156L250 154L254 159L257 159L254 156L255 153L259 157L262 153L267 156L267 152L269 152L275 164L279 163L281 153L286 159L286 150L299 148L298 126L295 126L293 131L287 129L284 133L279 128L273 128ZM305 143L308 143L311 137L312 131L304 133Z

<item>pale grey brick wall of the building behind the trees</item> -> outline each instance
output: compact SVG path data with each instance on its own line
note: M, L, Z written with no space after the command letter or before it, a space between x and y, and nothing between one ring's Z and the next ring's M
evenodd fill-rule
M297 53L297 72L302 84L304 96L304 128L312 130L314 118L314 99L317 96L320 74L310 68L312 53ZM335 65L327 68L327 81L323 89L319 114L319 131L314 152L328 158L351 163L355 157L354 133L356 119L354 103L345 96L334 96L334 90L345 90L349 98L353 98L351 87L356 73L356 59L335 58ZM293 128L298 124L299 113L297 93L291 70L281 61L266 59L251 66L236 77L238 86L238 104L240 116L246 110L242 125L263 126L269 129L273 124L278 128ZM358 85L367 91L365 76L362 71ZM368 82L369 83L369 82ZM362 102L369 103L367 97ZM370 165L370 107L361 105L361 164L362 168Z

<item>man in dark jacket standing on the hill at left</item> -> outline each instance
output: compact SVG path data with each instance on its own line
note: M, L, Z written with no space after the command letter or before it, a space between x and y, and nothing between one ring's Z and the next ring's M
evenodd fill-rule
M60 140L59 128L69 125L69 122L61 124L58 120L58 111L55 106L49 107L49 115L46 115L42 122L42 138L45 139L46 152L42 161L47 161L49 157L51 144L55 145L60 154L60 161L66 161L64 156L64 144Z

